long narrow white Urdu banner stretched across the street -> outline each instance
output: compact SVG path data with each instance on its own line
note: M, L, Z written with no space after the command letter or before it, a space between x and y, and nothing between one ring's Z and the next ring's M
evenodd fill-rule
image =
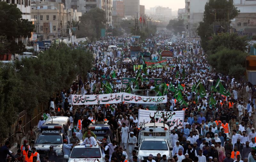
M73 105L116 104L123 101L138 104L161 104L167 102L167 96L147 97L125 92L98 95L72 95L71 98Z

